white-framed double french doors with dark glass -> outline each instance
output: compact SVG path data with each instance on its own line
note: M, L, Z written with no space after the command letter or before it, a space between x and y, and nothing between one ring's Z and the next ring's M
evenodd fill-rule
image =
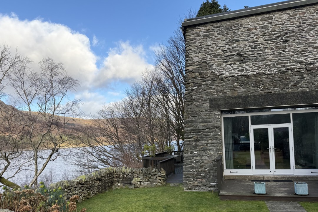
M251 126L253 174L294 174L291 124Z

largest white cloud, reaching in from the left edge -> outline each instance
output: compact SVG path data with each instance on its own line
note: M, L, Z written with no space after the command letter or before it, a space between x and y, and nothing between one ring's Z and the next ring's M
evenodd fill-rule
M97 57L90 49L86 35L72 31L65 25L41 19L19 20L16 15L0 14L1 42L18 48L18 53L29 57L38 67L44 57L63 63L70 75L79 79L82 87L89 86L97 72Z

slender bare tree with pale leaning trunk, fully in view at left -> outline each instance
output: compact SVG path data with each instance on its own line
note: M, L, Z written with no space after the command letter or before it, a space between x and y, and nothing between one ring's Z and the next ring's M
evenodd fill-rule
M61 63L44 58L39 67L41 72L33 72L27 64L11 74L10 82L25 112L26 140L32 150L34 177L29 187L37 186L39 175L49 161L55 160L59 148L73 140L74 132L66 128L78 116L79 99L69 100L67 93L79 82L66 74ZM70 117L70 118L68 118ZM45 151L43 151L45 149ZM43 161L43 165L39 163Z

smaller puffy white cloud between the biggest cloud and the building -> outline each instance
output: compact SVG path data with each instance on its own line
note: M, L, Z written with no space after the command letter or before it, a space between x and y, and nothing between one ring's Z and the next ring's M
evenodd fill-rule
M129 42L121 41L108 52L95 82L99 87L103 87L109 80L132 83L141 78L143 71L152 68L153 65L146 61L142 45L132 46Z

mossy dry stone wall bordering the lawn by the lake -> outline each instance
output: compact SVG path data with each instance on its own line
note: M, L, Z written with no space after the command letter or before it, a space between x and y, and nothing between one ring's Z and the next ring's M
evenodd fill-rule
M103 168L78 177L75 180L59 181L51 188L61 187L66 199L79 195L79 201L116 188L146 188L162 186L166 182L166 172L155 168Z

